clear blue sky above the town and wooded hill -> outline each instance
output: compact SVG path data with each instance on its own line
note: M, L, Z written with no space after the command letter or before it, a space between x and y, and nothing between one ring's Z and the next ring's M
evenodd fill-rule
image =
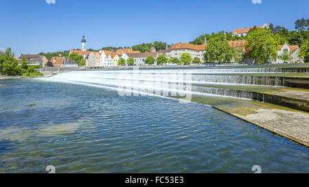
M51 1L51 0L47 0ZM124 47L155 40L189 42L264 23L294 29L309 18L308 0L1 0L0 50L21 53Z

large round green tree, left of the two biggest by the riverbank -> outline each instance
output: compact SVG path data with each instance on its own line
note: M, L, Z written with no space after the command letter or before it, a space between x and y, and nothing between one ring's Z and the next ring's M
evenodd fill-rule
M235 55L224 34L211 34L204 53L205 62L231 62Z

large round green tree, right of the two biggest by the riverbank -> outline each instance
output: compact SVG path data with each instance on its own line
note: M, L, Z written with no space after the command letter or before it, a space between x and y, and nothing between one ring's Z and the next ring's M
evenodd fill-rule
M279 36L268 29L255 29L247 36L247 49L258 64L277 59Z

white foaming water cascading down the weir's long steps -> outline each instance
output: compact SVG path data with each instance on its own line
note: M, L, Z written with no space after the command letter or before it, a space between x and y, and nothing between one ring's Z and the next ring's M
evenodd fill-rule
M216 88L218 86L286 86L284 77L254 76L249 73L282 73L283 68L196 68L196 69L147 69L123 71L76 71L43 78L52 82L67 82L88 86L102 86L120 91L148 93L163 96L216 95L255 99L249 90ZM297 72L296 68L287 68ZM303 69L304 70L304 69ZM301 71L303 72L303 71ZM234 73L229 75L229 73ZM237 75L240 73L240 75ZM246 75L246 73L248 75ZM131 93L130 93L131 94Z

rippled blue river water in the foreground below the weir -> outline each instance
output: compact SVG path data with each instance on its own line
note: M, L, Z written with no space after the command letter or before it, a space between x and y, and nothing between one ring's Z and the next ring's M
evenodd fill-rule
M306 147L205 105L34 79L0 84L0 172L309 172Z

